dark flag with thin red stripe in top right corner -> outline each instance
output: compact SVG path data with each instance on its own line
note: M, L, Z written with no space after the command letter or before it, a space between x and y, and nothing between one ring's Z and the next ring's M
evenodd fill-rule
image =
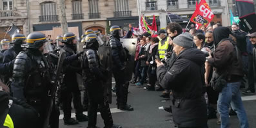
M256 14L253 0L236 0L239 19L239 26L243 31L254 33L256 31Z

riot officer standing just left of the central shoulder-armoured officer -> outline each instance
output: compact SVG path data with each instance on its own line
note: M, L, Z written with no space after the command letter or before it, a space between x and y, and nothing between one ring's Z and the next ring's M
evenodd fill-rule
M77 39L74 33L66 33L63 36L64 47L63 50L66 51L66 59L64 60L64 77L63 86L61 86L61 100L63 102L63 112L64 112L64 124L74 125L79 122L87 121L86 115L83 115L82 103L81 103L81 93L77 83L77 72L81 72L81 64L78 59L75 61L70 61L68 59L74 56L77 52ZM79 56L80 53L77 54ZM71 102L73 97L73 103L75 108L76 119L71 118Z

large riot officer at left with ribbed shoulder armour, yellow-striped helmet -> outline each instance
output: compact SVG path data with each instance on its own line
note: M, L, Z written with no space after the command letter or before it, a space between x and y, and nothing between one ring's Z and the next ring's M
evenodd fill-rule
M27 51L16 56L13 81L11 84L13 97L30 104L39 113L38 127L48 124L46 118L48 108L48 92L52 86L52 68L43 55L46 37L43 33L34 32L26 40Z

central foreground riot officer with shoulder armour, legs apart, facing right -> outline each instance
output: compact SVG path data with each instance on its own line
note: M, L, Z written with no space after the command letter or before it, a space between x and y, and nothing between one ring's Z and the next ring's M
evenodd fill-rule
M107 71L101 67L97 50L99 43L97 42L97 35L89 34L85 38L83 54L83 80L84 86L88 92L88 128L95 128L97 121L97 108L104 120L105 128L116 127L113 125L112 115L108 106L108 100L104 99L103 83L107 78Z

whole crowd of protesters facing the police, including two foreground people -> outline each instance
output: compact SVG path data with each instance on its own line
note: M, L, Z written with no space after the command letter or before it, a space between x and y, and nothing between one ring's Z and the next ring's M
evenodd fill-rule
M141 35L133 34L131 38L138 38L138 42L134 77L130 83L142 86L144 90L162 91L160 97L172 99L171 106L164 110L173 113L173 120L178 127L207 127L204 116L208 120L215 118L221 127L228 127L228 118L231 115L239 117L241 127L249 127L240 91L243 94L255 93L255 33L242 31L238 24L223 27L217 23L207 28L201 26L195 29L191 26L184 30L179 24L172 22L166 29L159 30L157 36L153 32L146 32ZM188 67L193 70L188 70ZM223 73L225 68L228 69L227 84L217 91L211 86L211 80L215 77L213 72ZM199 69L202 77L197 74ZM200 92L204 100L192 98ZM179 99L177 97L182 97L178 102L187 99L182 104L190 104L190 107L175 108ZM204 111L204 108L207 109Z

